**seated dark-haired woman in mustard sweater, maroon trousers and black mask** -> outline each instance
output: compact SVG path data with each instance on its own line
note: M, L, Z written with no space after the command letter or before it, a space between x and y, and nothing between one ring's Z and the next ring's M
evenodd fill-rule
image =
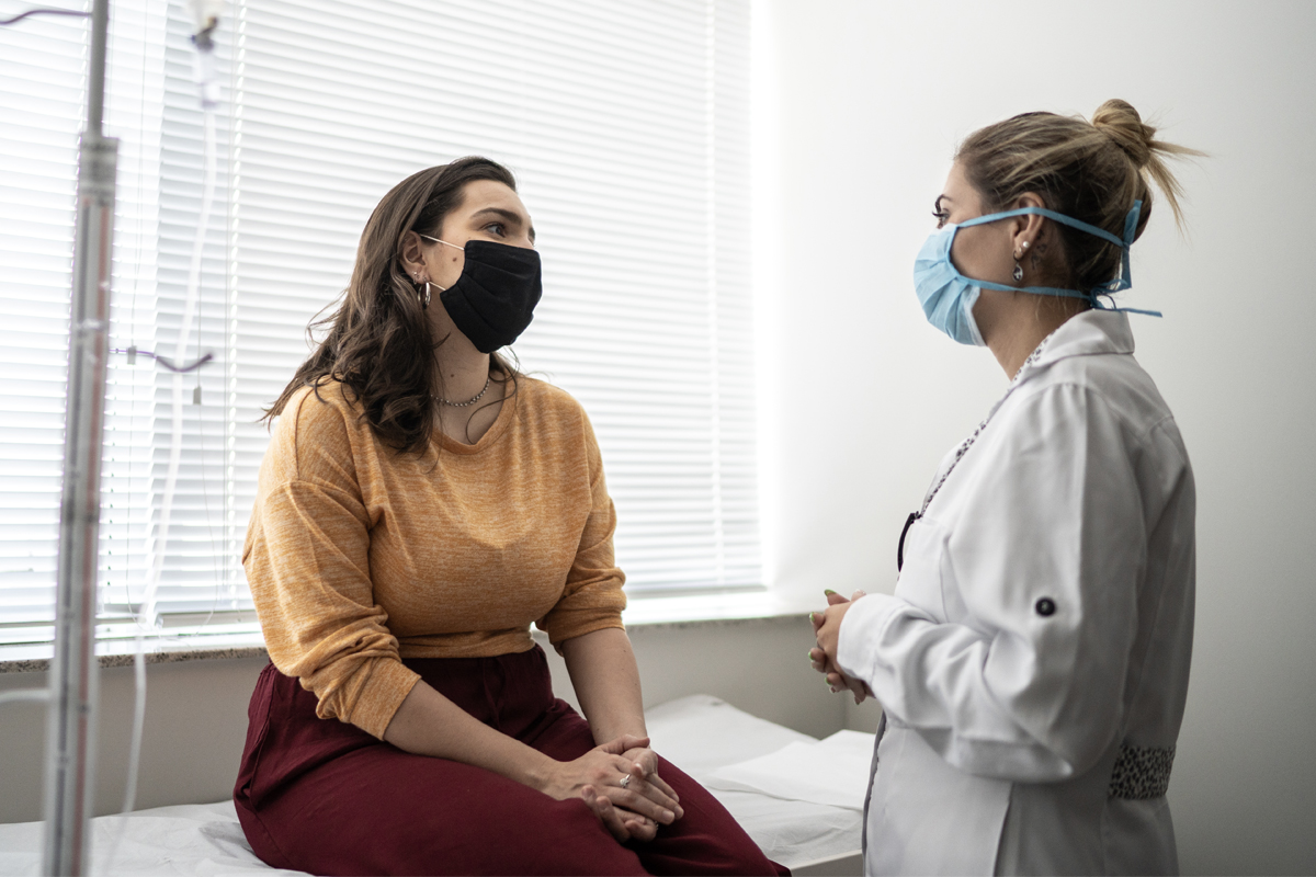
M590 421L494 352L540 298L533 243L494 162L403 180L268 412L243 831L317 874L780 873L647 748Z

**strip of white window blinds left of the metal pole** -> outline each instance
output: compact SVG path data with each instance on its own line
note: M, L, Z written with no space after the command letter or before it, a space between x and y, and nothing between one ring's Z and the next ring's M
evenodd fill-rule
M54 611L87 25L0 28L0 575L4 622ZM49 628L45 635L49 634Z

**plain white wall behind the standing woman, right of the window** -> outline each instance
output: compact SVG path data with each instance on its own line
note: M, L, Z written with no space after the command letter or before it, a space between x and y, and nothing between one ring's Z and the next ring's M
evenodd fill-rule
M924 322L912 289L955 143L1024 110L1130 101L1211 153L1179 170L1188 239L1159 200L1124 293L1166 314L1130 317L1137 355L1198 479L1196 646L1170 788L1180 860L1316 872L1316 4L766 5L782 139L765 544L779 584L890 590L905 514L1005 388L991 354Z

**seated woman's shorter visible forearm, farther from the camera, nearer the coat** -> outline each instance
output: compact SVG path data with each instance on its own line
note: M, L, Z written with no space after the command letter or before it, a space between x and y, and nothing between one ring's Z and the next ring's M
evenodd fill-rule
M626 631L608 627L569 639L562 656L595 743L622 734L647 736L640 669Z

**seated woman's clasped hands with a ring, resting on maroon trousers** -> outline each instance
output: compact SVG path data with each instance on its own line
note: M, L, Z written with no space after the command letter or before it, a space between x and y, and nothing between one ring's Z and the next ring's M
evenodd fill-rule
M658 776L646 736L624 734L559 763L555 774L546 792L559 801L579 797L619 843L653 840L659 823L684 815L680 798Z

